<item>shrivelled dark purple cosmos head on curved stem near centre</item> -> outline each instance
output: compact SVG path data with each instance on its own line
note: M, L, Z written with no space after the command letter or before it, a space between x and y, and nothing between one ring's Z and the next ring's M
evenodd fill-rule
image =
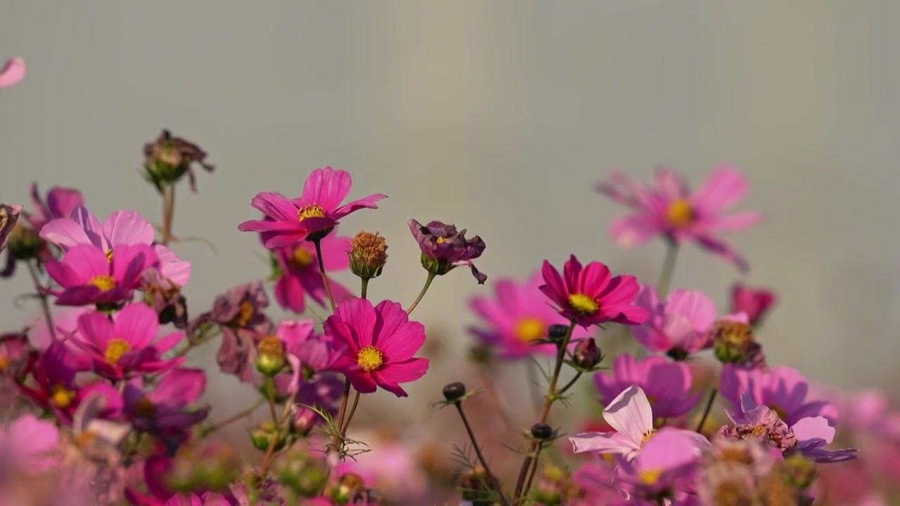
M472 262L484 252L482 238L476 235L465 239L465 229L457 231L454 225L441 221L429 221L428 225L422 225L419 221L410 220L409 225L412 237L422 250L422 267L428 272L443 276L454 267L468 266L479 285L487 281L488 276L479 272Z

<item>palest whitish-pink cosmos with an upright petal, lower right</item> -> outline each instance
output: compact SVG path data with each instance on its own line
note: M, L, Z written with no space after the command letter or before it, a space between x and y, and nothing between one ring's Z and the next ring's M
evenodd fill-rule
M613 402L603 410L603 418L616 432L585 432L569 438L575 453L598 452L625 456L634 460L641 453L644 444L653 438L653 411L644 390L633 384L619 393ZM699 456L700 449L707 447L707 438L692 430L671 429L687 438Z

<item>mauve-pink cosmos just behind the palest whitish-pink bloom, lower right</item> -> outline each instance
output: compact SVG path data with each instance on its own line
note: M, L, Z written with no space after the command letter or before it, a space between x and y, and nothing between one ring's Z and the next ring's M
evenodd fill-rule
M676 418L688 413L697 403L700 392L689 395L690 369L683 362L670 362L665 357L646 357L635 360L620 355L613 363L611 374L601 371L594 375L601 402L613 399L636 384L644 391L653 408L654 418Z

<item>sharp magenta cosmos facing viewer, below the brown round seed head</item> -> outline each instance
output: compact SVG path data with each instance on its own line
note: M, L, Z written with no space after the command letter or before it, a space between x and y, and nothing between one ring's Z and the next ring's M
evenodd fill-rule
M360 393L377 387L406 397L401 383L418 380L428 372L428 359L413 355L425 343L425 327L410 321L400 303L348 299L325 321L325 333L347 344L342 368Z

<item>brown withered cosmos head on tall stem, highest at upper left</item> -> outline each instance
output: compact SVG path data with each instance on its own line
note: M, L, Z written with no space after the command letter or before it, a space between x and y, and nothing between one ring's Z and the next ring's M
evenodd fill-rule
M191 185L191 191L197 191L193 164L196 163L207 172L215 170L215 166L206 163L206 151L193 142L164 130L157 140L144 144L144 169L148 180L162 192L163 185L175 184L184 174Z

